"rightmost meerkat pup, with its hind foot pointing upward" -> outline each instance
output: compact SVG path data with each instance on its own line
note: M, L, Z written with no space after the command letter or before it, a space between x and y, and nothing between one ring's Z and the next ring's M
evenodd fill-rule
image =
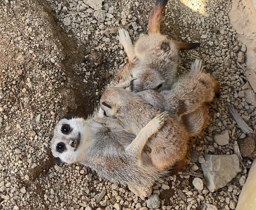
M190 73L181 75L171 89L160 92L144 90L137 94L159 109L177 113L190 136L198 136L209 121L207 104L212 102L214 95L220 96L220 90L215 79L202 72L201 60L196 59L190 70Z

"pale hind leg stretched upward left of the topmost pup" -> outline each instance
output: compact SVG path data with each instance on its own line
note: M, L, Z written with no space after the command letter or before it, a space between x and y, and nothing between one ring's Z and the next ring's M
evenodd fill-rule
M118 29L118 33L119 33L119 42L123 45L124 51L126 52L129 58L129 61L132 62L132 60L134 60L135 54L134 54L132 40L129 35L129 32L124 28L120 27Z

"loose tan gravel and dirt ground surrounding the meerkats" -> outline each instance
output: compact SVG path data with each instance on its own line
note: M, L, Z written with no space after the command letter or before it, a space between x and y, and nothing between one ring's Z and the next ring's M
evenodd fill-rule
M127 62L117 34L106 29L129 25L132 39L138 38L147 31L154 4L106 0L101 8L101 3L91 2L0 3L0 208L234 209L251 167L249 158L243 160L245 168L218 191L209 192L204 179L180 172L156 184L147 201L125 186L102 180L89 168L52 162L49 143L57 120L67 112L91 114L104 87ZM236 30L229 23L231 5L230 0L193 4L173 0L162 19L164 34L202 43L196 50L180 53L179 73L201 58L205 71L221 87L221 97L210 109L209 127L191 140L184 171L203 173L201 155L234 154L235 140L247 139L229 115L228 103L256 130L255 94L242 89L246 46L236 41ZM228 144L215 142L220 133L229 135Z

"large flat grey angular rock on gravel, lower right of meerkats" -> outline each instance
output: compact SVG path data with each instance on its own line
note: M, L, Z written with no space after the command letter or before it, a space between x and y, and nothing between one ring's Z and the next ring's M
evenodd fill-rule
M225 187L238 172L239 159L237 155L204 155L205 162L202 163L206 187L214 192Z

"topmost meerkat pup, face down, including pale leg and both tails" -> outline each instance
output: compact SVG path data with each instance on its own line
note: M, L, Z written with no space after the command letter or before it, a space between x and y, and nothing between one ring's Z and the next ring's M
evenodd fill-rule
M137 78L132 91L170 88L177 73L178 50L200 46L200 43L180 43L160 33L160 19L167 2L156 0L149 17L148 35L141 35L134 49L128 31L119 29L119 41L134 64L131 76Z

